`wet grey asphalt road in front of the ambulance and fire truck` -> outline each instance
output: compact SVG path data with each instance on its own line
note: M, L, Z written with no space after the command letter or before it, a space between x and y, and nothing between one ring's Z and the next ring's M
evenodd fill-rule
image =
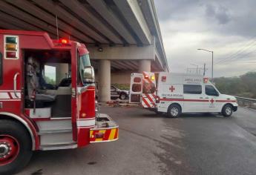
M37 151L20 174L256 174L256 111L230 118L142 108L101 108L119 123L119 140L65 151Z

